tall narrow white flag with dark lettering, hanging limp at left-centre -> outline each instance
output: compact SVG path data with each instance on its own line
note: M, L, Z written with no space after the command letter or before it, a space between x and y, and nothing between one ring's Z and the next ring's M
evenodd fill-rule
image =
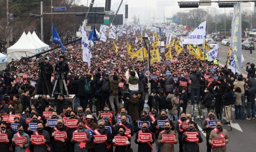
M90 66L90 59L92 58L92 54L90 52L90 45L86 36L86 32L84 31L84 27L82 26L82 50L83 50L83 61L88 63Z

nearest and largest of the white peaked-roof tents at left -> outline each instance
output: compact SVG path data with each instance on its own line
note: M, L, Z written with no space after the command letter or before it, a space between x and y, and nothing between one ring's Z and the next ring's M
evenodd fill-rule
M31 42L27 38L26 33L23 32L20 39L10 48L7 48L8 62L11 62L12 59L20 59L21 56L33 56L37 52L41 52L40 46L36 46L33 42Z

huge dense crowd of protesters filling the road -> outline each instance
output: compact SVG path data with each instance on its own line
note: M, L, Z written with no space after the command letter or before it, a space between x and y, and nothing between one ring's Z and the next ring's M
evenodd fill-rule
M145 32L152 40L152 33ZM113 39L95 42L90 47L93 56L90 67L82 61L81 44L65 46L64 61L69 68L66 73L66 85L68 93L76 95L76 101L72 103L61 94L56 110L54 103L47 100L46 95L42 96L40 105L37 101L31 103L30 99L37 92L43 92L37 89L40 85L38 62L46 61L55 68L62 50L55 49L35 59L26 60L25 56L12 59L6 70L0 73L1 133L8 135L6 143L0 142L1 149L5 149L4 152L25 152L27 149L31 152L47 152L49 148L50 152L113 152L113 149L115 152L126 152L131 148L131 136L135 133L138 152L151 152L154 143L158 152L174 152L173 144L177 143L180 152L183 152L183 149L186 152L199 152L199 144L187 140L189 137L186 134L199 131L195 121L192 121L192 115L186 110L191 102L192 106L200 106L197 118L204 119L207 152L211 149L226 151L226 146L212 147L212 138L219 137L219 132L226 137L224 143L229 142L229 136L222 128L222 121L218 121L221 119L222 110L225 111L225 115L222 115L226 118L224 124L244 118L255 119L254 64L247 65L248 77L244 78L241 73L233 73L207 59L196 59L195 56L189 55L184 45L180 54L174 47L171 48L171 62L166 61L165 56L169 50L166 48L161 52L161 62L150 63L150 76L147 77L147 58L137 61L136 57L128 56L125 47L129 42L134 51L142 48L142 41L135 43L139 35L140 31L137 31L135 35L130 33L118 37L118 40L115 40L117 53L112 49ZM66 36L63 43L69 39ZM160 41L165 42L166 37ZM159 46L159 49L163 47ZM54 71L55 69L50 75L50 90L55 82ZM152 79L151 75L157 76L157 79ZM87 83L90 83L91 87L89 93L85 90ZM143 110L145 102L148 104L148 111ZM77 108L73 109L72 104L76 104ZM93 104L96 107L95 113ZM235 118L231 113L233 105ZM207 109L207 116L203 116L203 109ZM248 115L245 115L245 111ZM48 112L48 116L44 112ZM48 119L56 120L55 125L50 125ZM73 120L76 125L70 127L67 120ZM216 120L216 130L207 124L208 120ZM29 128L30 123L36 123L37 129L32 131L33 129ZM18 126L14 128L14 124ZM162 135L175 134L175 130L178 132L178 138L172 141L172 144L166 143ZM66 134L60 138L58 132ZM86 138L77 141L74 132L85 132ZM142 141L141 133L151 134L148 141ZM36 137L31 135L44 135L44 144L32 144L36 142L33 140ZM127 140L120 144L120 141L117 142L119 136ZM18 144L15 138L22 137L26 137L27 142ZM199 143L203 141L200 133L195 138L198 138Z

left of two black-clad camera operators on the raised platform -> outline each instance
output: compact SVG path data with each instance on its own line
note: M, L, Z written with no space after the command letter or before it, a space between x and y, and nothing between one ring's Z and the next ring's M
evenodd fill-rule
M41 73L40 73L40 79L37 85L37 94L51 94L52 93L52 87L51 87L51 78L52 78L52 72L53 72L53 67L52 65L49 63L49 57L45 57L44 58L44 62L41 63L42 65L40 65L40 63L38 63ZM44 76L43 74L45 74L45 78L46 80L44 80ZM47 82L47 84L44 84L44 82ZM47 87L49 88L49 93L47 90Z

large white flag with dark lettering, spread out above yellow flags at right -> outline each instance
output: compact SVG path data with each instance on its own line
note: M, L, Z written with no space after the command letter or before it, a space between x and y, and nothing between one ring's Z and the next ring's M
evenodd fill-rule
M182 44L202 44L206 36L206 21L201 23L188 38L184 39Z

